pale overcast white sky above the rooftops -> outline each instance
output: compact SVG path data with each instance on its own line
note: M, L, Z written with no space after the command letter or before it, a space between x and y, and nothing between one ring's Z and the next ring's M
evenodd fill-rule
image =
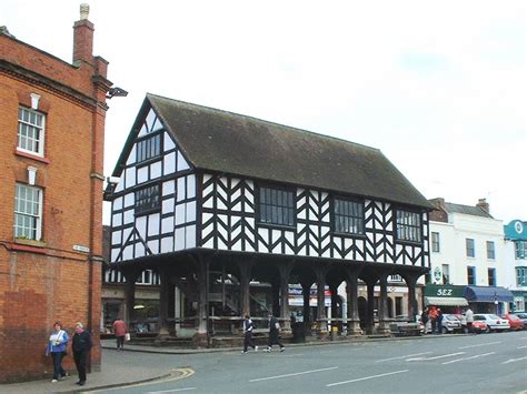
M81 2L2 0L0 26L71 62ZM107 175L151 92L378 148L428 199L527 220L525 0L86 2L129 91Z

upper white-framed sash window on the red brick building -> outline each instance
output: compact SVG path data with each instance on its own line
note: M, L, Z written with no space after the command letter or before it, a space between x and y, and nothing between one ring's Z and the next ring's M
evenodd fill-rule
M42 113L19 107L17 149L43 156L44 123Z

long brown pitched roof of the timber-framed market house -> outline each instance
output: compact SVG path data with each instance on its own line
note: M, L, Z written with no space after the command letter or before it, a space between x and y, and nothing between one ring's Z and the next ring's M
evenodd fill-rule
M150 93L148 103L196 169L431 209L378 149Z

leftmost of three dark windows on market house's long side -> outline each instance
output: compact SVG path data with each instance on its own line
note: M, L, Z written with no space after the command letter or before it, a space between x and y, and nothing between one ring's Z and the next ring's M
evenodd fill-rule
M260 188L260 223L295 225L295 199L292 191Z

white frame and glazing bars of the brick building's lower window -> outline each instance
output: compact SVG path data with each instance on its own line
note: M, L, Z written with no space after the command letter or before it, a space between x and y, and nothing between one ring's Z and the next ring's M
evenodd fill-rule
M27 191L36 192L37 193L37 201L24 199L24 205L27 204L34 204L37 203L37 212L28 212L28 210L19 210L20 208L20 191L26 189ZM27 195L27 193L26 193ZM43 201L43 191L41 188L30 186L23 183L17 183L14 190L14 222L13 222L13 234L14 238L18 239L28 239L28 240L36 240L40 241L42 239L42 201ZM27 226L23 223L20 225L18 224L18 219L30 218L34 220L34 229L33 226ZM32 234L34 232L34 235Z

